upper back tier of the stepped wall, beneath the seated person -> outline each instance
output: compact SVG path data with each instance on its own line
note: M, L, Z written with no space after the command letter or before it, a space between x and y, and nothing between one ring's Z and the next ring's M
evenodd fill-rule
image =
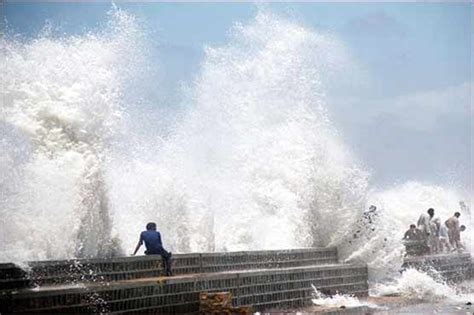
M337 263L336 248L173 255L175 275ZM0 290L77 282L109 282L163 275L160 256L29 262L29 272L0 264ZM3 269L2 269L3 266ZM15 269L16 268L16 269Z

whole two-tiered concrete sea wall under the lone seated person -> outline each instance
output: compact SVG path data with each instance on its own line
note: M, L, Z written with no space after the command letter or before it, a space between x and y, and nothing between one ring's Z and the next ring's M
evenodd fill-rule
M173 277L161 276L158 257L32 262L24 274L4 264L4 283L31 278L40 285L1 290L0 312L193 314L199 293L219 291L231 292L234 306L263 311L310 304L311 285L368 293L367 267L339 264L335 248L183 254L173 264Z

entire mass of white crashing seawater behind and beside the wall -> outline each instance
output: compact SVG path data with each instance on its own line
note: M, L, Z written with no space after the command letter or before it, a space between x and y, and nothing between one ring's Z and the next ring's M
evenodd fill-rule
M159 69L127 12L94 33L1 45L1 261L128 254L155 221L173 252L338 246L391 286L409 224L470 204L453 187L372 187L328 113L344 43L271 12L206 47L168 111L143 106ZM461 221L469 245L470 213Z

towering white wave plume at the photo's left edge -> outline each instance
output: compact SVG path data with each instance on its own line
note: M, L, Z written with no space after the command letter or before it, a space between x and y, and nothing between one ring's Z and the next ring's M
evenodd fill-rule
M139 36L133 17L110 13L97 34L2 41L4 260L108 256L117 250L104 179L106 141L123 116ZM132 69L132 70L131 70ZM19 135L21 161L12 155ZM3 153L2 153L3 154ZM3 168L3 166L2 166ZM10 172L5 169L6 172Z

